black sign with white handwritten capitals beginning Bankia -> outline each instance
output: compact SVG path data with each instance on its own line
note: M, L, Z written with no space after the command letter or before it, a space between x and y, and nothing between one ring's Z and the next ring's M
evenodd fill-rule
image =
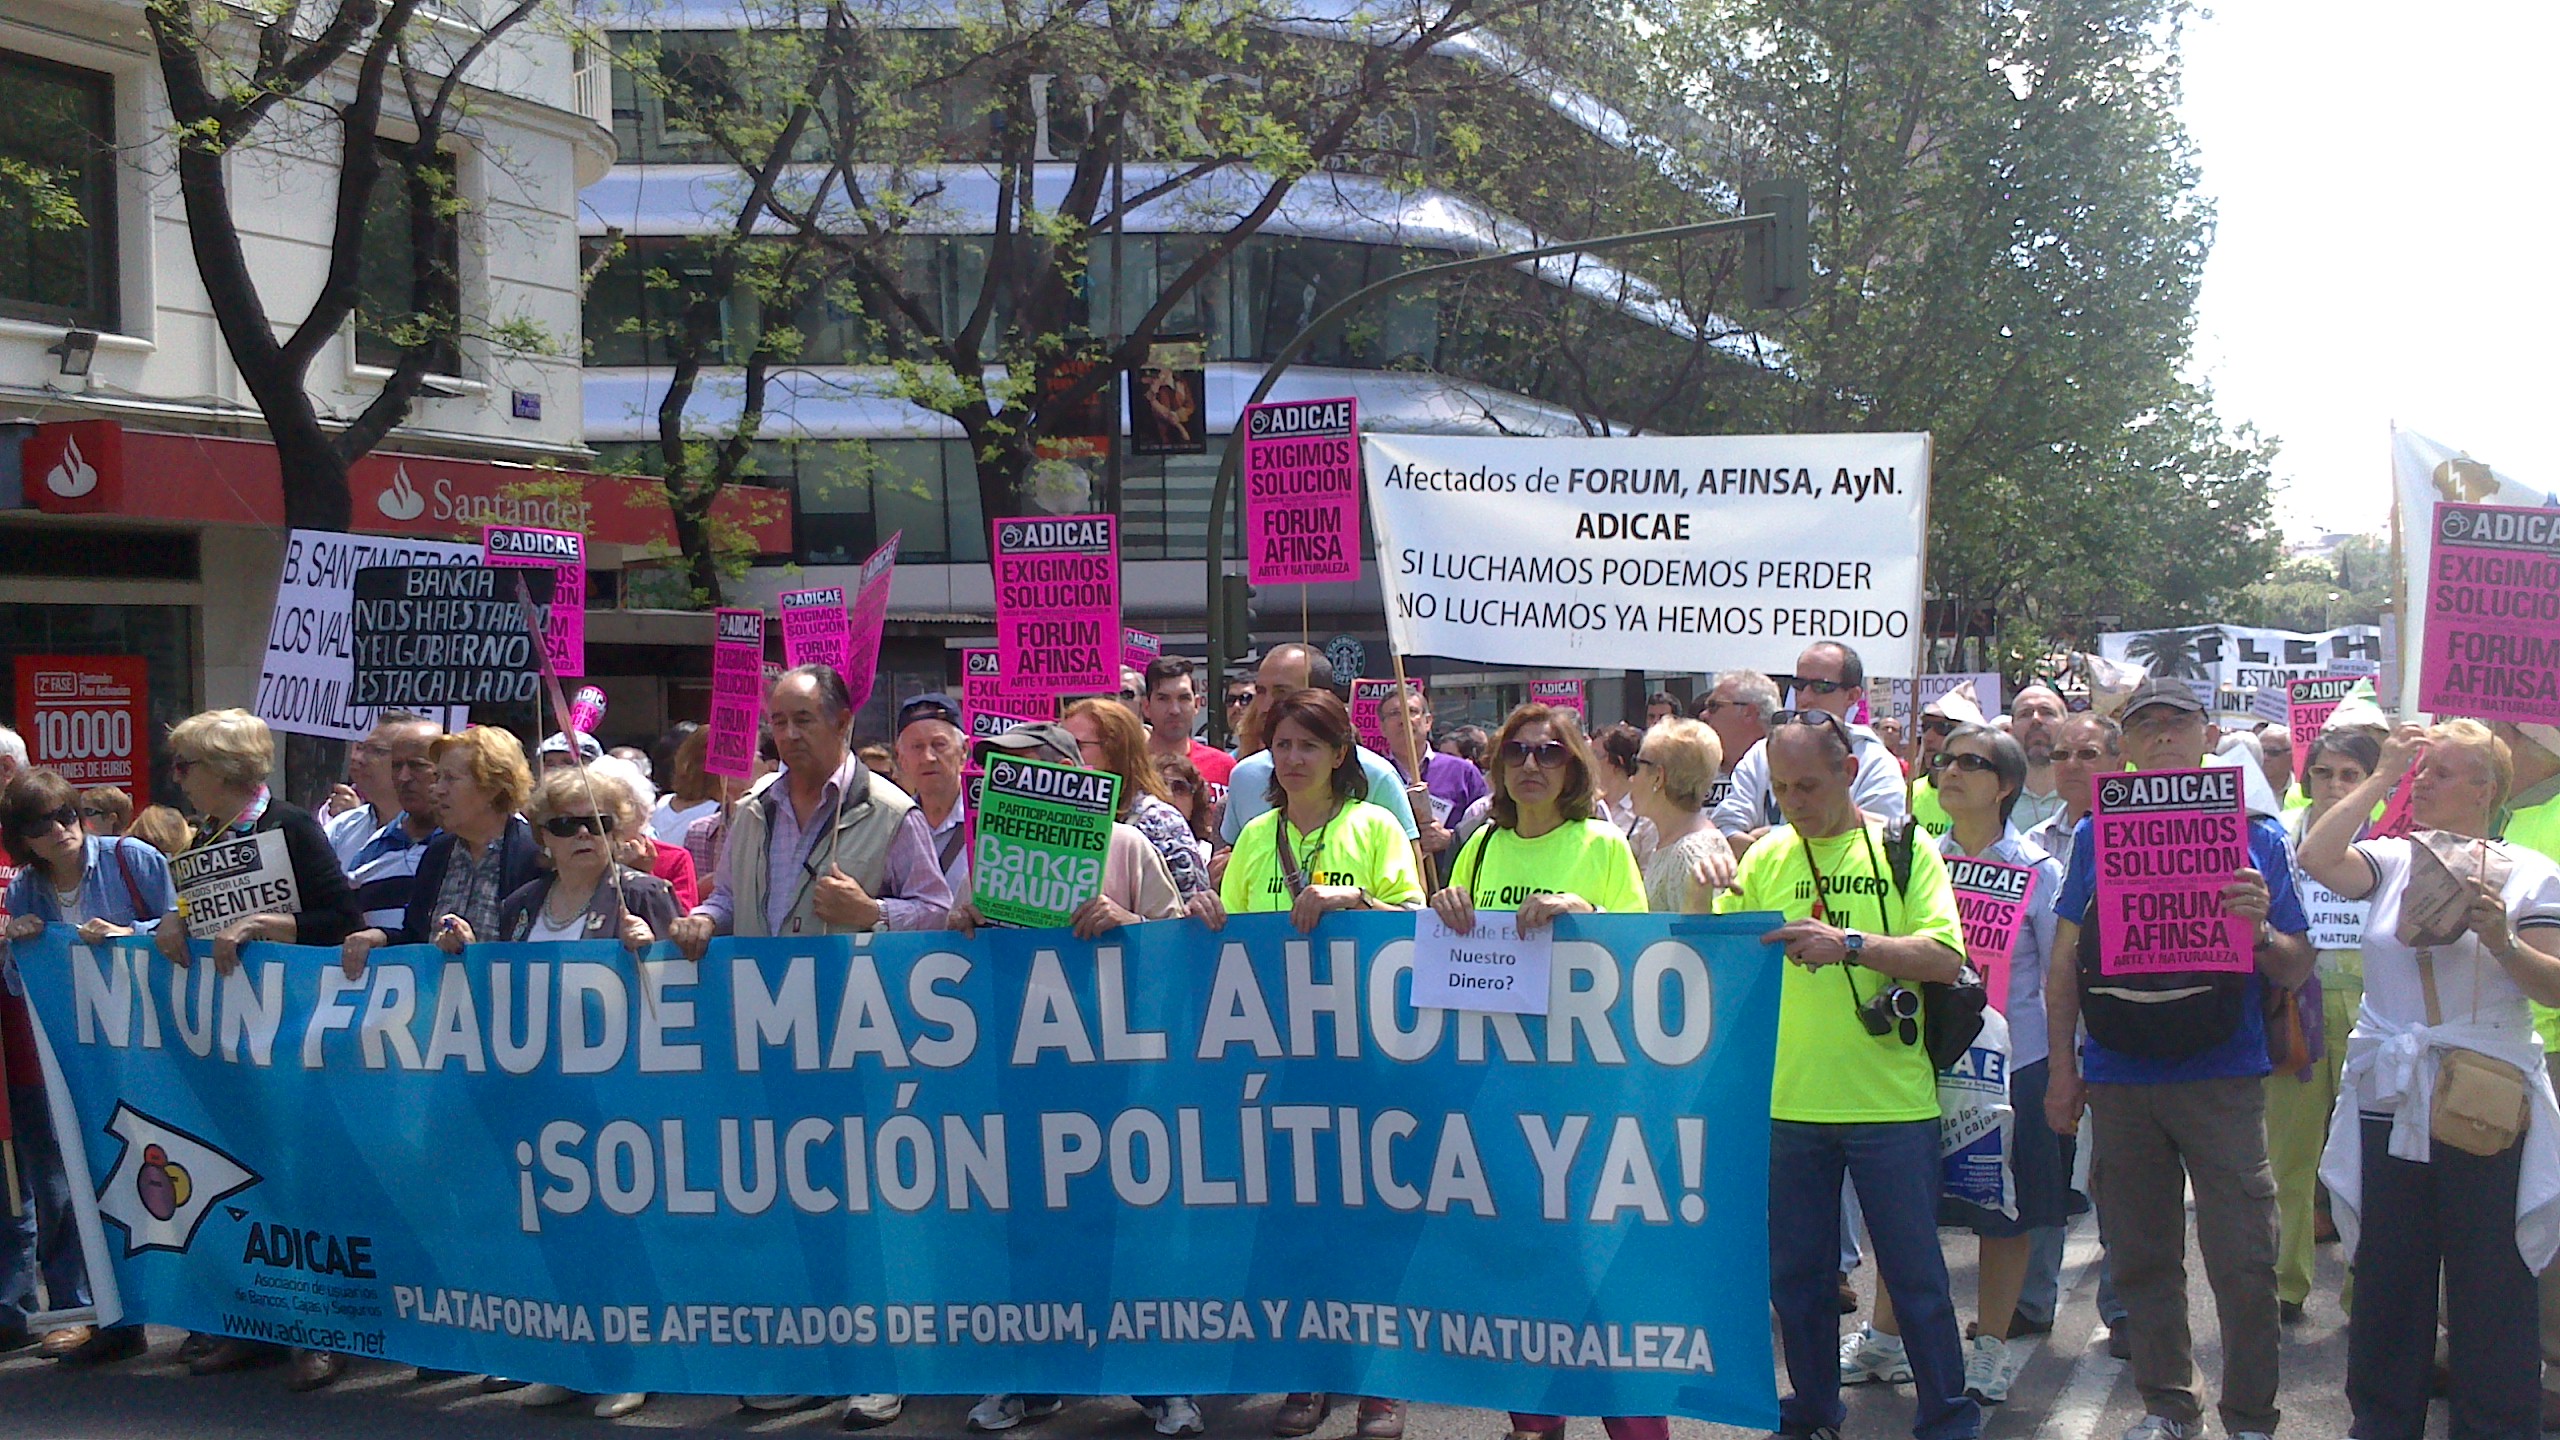
M381 566L356 571L353 705L530 705L543 651L517 587L550 625L553 571Z

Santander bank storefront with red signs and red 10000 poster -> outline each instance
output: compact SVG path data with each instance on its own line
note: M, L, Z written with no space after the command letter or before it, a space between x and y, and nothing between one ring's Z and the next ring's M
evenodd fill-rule
M371 454L348 489L358 533L586 536L589 679L612 697L609 735L663 725L684 710L668 705L671 687L709 674L709 618L645 610L673 582L676 553L655 482ZM788 492L737 489L714 515L763 553L791 548ZM159 792L172 723L253 702L282 556L284 489L266 441L115 420L0 428L0 717L38 764Z

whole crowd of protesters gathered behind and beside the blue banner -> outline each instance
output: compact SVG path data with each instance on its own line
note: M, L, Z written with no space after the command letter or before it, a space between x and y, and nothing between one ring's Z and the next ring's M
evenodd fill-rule
M1646 725L1597 735L1549 705L1510 710L1490 735L1436 730L1428 694L1408 687L1385 700L1385 751L1372 751L1324 651L1290 643L1216 700L1234 751L1198 735L1211 697L1180 659L975 746L947 694L909 697L891 735L860 743L845 676L801 666L771 684L755 774L740 779L704 771L699 728L666 735L658 756L607 753L581 733L527 753L499 728L443 733L384 712L317 815L269 789L274 735L241 710L169 733L184 810L79 792L0 730L8 938L151 933L169 963L223 971L246 943L325 945L361 976L371 951L415 943L663 940L701 958L717 935L975 930L965 774L1006 751L1119 779L1101 887L1070 922L1085 938L1180 920L1216 930L1239 912L1285 912L1298 930L1344 910L1431 907L1457 930L1482 910L1516 912L1523 930L1592 912L1777 912L1764 940L1784 961L1769 1097L1784 1437L1838 1435L1848 1384L1910 1386L1920 1440L1979 1435L2033 1355L2022 1340L2053 1327L2063 1232L2092 1207L2097 1343L2130 1361L2145 1412L2127 1440L2199 1435L2189 1197L2222 1327L2212 1404L2235 1440L2278 1427L2284 1327L2314 1302L2312 1253L2327 1240L2353 1253L2335 1302L2350 1317L2355 1437L2424 1435L2432 1394L2450 1394L2460 1437L2560 1427L2560 1281L2545 1284L2560 1248L2547 1076L2547 1051L2560 1053L2560 1010L2547 1010L2560 1007L2560 733L2388 725L2350 700L2296 756L2284 728L2220 733L2176 679L2094 705L2030 684L2004 715L1958 689L1866 725L1866 669L1843 643L1810 646L1787 676L1718 674L1695 707L1656 692ZM2255 969L2135 1004L2097 961L2092 781L2207 764L2245 781L2248 866L2220 904L2253 928ZM2406 822L2383 825L2394 799ZM297 907L189 945L172 856L259 833L282 833ZM1948 858L2033 874L2004 994L1989 997L2012 1109L2015 1207L2002 1209L1940 1194L1923 997L1974 979ZM128 1361L146 1348L138 1325L28 1330L31 1314L90 1297L23 1004L0 1020L33 1199L0 1225L0 1348ZM1969 1320L1951 1232L1979 1245ZM1871 1312L1843 1335L1859 1307L1848 1271L1869 1253ZM292 1389L351 1366L218 1335L187 1338L179 1358L195 1373L284 1366ZM602 1417L648 1404L479 1384ZM840 1396L837 1414L878 1427L904 1399ZM1196 1396L1134 1399L1162 1435L1206 1430ZM1403 1435L1395 1396L1329 1394L1283 1396L1272 1435L1313 1432L1336 1399L1354 1407L1357 1437ZM1065 1404L991 1394L968 1422L1011 1430ZM1510 1414L1510 1440L1562 1427ZM1664 1417L1605 1427L1667 1435Z

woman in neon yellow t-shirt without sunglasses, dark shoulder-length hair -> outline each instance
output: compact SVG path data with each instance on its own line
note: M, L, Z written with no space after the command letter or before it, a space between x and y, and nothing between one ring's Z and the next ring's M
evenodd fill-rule
M1413 843L1395 815L1364 799L1370 779L1341 700L1300 689L1272 705L1265 725L1270 810L1244 825L1219 894L1196 897L1193 912L1216 925L1229 912L1288 910L1313 930L1329 910L1421 907Z

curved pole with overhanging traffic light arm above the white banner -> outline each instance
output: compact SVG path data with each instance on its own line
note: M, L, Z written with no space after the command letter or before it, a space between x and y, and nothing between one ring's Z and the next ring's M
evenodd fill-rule
M1403 274L1390 274L1362 284L1359 290L1344 295L1321 315L1306 323L1280 354L1272 356L1270 366L1262 369L1262 379L1254 392L1244 400L1244 407L1254 407L1270 397L1272 387L1290 364L1298 361L1316 343L1316 336L1326 333L1331 325L1398 290L1413 290L1418 284L1434 284L1457 274L1472 274L1480 269L1513 266L1531 259L1549 259L1564 254L1595 254L1628 246L1646 246L1661 241L1682 241L1690 236L1715 236L1725 231L1743 233L1751 246L1746 256L1746 279L1751 300L1756 305L1784 307L1795 305L1805 295L1805 187L1797 182L1764 182L1743 190L1743 215L1731 215L1725 220L1700 220L1692 225L1667 225L1659 231L1628 231L1623 236L1592 236L1587 241L1567 241L1556 246L1536 246L1526 251L1503 251L1490 256L1469 256L1444 264L1426 264L1408 269ZM1226 612L1226 546L1221 533L1226 530L1226 507L1236 487L1236 469L1244 459L1244 410L1236 410L1236 423L1226 430L1226 443L1219 448L1219 479L1208 492L1208 694L1226 694L1226 656L1234 625L1244 623L1244 615ZM1242 646L1239 646L1242 648ZM1226 738L1226 712L1211 712L1211 735Z

